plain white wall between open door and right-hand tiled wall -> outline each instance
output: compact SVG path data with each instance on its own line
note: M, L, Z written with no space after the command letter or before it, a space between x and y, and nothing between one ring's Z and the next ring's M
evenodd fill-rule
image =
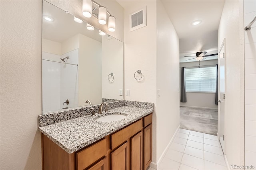
M242 8L239 1L225 1L218 29L219 50L226 38L224 152L230 165L244 164L244 26Z

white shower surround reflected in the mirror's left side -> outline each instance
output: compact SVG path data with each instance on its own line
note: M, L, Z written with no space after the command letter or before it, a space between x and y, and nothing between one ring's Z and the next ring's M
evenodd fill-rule
M63 55L42 53L43 113L78 106L78 66L54 62L66 56L67 63L78 64L78 49ZM69 105L63 105L67 99Z

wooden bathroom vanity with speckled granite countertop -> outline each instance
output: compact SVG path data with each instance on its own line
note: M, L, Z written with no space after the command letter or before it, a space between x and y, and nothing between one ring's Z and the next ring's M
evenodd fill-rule
M146 170L152 161L153 107L144 109L122 102L126 105L102 115L86 115L39 127L43 169ZM114 122L97 121L104 114L127 117Z

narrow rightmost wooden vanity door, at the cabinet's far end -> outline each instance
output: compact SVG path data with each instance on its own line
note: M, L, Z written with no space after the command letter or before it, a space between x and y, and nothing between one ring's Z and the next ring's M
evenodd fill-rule
M152 124L143 130L143 169L146 170L152 161Z

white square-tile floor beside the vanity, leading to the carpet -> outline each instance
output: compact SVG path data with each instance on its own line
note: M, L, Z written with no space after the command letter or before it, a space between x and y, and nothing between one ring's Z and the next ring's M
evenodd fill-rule
M226 170L226 164L217 136L180 129L158 170Z

